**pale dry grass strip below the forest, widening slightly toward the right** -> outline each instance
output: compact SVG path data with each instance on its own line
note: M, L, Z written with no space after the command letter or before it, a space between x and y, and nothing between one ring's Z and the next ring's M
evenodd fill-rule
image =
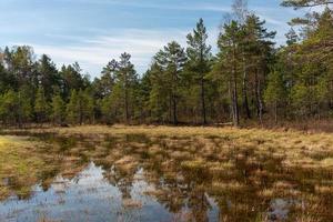
M224 139L248 139L264 142L280 142L285 143L284 147L302 147L311 143L311 149L325 149L333 142L333 134L331 133L305 133L302 131L283 131L283 130L265 130L265 129L235 129L235 128L211 128L211 127L125 127L125 125L83 125L73 128L49 128L49 129L32 129L30 132L56 132L63 135L83 134L92 137L101 137L103 134L123 135L137 134L148 137L169 137L169 138L186 138L186 137L211 137Z

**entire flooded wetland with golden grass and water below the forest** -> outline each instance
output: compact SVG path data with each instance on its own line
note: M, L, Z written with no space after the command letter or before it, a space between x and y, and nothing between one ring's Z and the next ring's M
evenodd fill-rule
M332 221L333 135L78 127L0 137L0 221Z

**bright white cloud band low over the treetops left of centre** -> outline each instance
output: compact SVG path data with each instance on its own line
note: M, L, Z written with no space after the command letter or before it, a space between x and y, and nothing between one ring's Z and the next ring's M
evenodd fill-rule
M132 54L132 62L139 72L143 72L148 69L154 53L168 42L176 40L184 46L184 33L186 32L176 29L163 31L125 29L114 30L113 33L90 39L87 39L87 37L47 34L56 39L75 40L74 43L64 46L34 42L13 42L12 44L29 44L33 47L37 54L49 54L58 67L78 61L84 71L98 75L108 61L118 59L123 52Z

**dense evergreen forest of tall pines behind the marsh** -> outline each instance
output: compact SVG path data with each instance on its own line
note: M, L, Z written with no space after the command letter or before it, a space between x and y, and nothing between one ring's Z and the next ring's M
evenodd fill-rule
M30 47L7 47L0 51L0 122L240 125L333 118L333 2L282 2L312 9L290 22L282 47L243 3L236 0L221 26L216 54L200 19L186 46L168 43L142 75L129 53L90 80L78 63L58 70Z

